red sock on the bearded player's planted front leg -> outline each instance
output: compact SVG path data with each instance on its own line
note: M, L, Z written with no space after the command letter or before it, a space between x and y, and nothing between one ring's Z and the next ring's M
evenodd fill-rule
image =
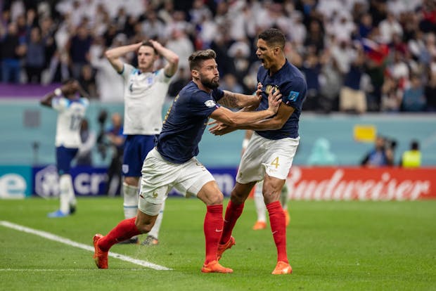
M218 240L222 233L222 205L207 206L203 226L206 239L205 264L217 259Z

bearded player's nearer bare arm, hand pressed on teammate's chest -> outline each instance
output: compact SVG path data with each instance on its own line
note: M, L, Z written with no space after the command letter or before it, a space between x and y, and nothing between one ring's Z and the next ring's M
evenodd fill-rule
M276 114L278 106L281 103L281 93L277 90L269 93L268 96L269 107L266 110L256 111L256 112L232 112L231 110L220 107L214 110L210 117L222 122L223 124L229 125L229 127L241 127L253 122L258 122L259 120L271 117Z

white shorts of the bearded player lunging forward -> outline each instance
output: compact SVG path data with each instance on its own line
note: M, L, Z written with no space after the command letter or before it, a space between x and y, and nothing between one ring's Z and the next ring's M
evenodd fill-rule
M203 185L210 181L214 181L214 177L196 157L184 164L174 164L164 160L153 148L142 166L139 209L148 215L158 215L160 205L172 188L188 198L197 195Z

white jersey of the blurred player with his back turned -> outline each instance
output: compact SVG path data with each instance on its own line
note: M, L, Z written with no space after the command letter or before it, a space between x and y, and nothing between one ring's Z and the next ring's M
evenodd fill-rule
M58 111L58 122L56 124L55 145L63 145L65 148L79 148L80 124L85 116L89 101L86 98L79 98L71 101L65 97L53 98L51 107Z

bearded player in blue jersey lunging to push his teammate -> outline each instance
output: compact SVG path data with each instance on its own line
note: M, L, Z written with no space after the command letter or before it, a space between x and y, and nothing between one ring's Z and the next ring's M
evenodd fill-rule
M108 251L115 243L148 233L153 228L169 190L176 188L186 197L197 196L207 207L203 225L206 256L201 271L233 272L217 261L218 240L223 228L224 195L212 174L195 157L198 155L198 143L209 118L238 127L274 116L281 103L281 93L271 91L265 101L267 107L257 112L232 112L224 108L219 103L245 107L259 104L259 98L219 89L215 58L216 53L211 49L196 51L188 58L192 81L174 99L155 148L143 162L136 219L121 221L105 236L94 235L94 259L98 268L108 268Z

